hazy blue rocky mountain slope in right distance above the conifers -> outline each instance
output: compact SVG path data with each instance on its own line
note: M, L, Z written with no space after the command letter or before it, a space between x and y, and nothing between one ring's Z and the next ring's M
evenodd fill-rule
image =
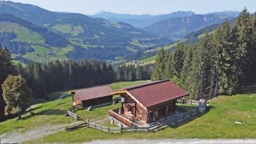
M185 18L172 18L158 21L144 29L153 34L164 36L172 41L181 40L186 34L202 29L215 23L222 23L225 19L232 19L229 16L218 15L192 15Z

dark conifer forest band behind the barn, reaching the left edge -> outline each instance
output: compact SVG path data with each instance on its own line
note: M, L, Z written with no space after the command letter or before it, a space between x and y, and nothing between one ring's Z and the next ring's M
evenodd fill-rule
M8 75L21 75L34 99L46 99L47 93L54 91L88 88L116 81L147 80L151 76L149 66L120 66L114 69L111 64L99 60L58 61L41 65L39 62L12 64L12 57L6 47L0 49L0 84ZM0 89L0 121L15 115L5 115L5 101Z

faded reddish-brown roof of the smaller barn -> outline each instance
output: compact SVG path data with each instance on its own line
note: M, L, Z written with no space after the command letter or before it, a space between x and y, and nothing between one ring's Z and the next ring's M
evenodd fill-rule
M92 88L83 88L79 90L74 90L74 92L77 94L77 97L80 99L80 101L84 101L88 99L96 99L99 97L107 97L111 95L109 94L109 91L112 91L112 88L109 85L95 86Z

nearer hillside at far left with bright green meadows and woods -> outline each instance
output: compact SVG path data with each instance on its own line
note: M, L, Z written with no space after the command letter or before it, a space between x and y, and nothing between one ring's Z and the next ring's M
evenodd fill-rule
M66 60L63 53L73 49L64 36L5 13L0 13L0 43L23 63Z

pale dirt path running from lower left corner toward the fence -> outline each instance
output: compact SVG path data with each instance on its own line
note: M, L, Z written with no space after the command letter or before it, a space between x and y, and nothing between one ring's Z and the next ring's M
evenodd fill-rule
M78 125L80 123L83 123L83 122L77 121L75 123L70 123L66 125L45 125L45 126L33 128L32 130L29 130L23 134L21 134L21 132L18 132L18 131L12 131L12 132L0 135L0 139L1 139L1 143L21 143L24 141L38 139L51 134L57 134L58 132L65 130L66 126L75 125L75 124Z

